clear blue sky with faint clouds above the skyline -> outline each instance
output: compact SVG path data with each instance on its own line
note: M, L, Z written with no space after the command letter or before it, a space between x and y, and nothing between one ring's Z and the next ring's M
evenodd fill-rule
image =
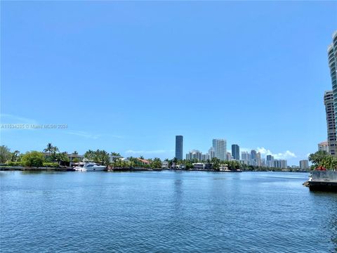
M333 1L1 1L11 150L173 157L212 138L298 164L326 140ZM287 152L288 151L288 152Z

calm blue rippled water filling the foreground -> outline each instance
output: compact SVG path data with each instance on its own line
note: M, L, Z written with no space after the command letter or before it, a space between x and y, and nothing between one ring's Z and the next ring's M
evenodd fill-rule
M308 174L0 171L1 252L336 252Z

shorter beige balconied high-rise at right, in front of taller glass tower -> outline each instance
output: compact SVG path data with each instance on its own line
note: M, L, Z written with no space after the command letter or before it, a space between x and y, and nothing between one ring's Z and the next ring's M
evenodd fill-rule
M336 122L335 122L335 110L333 92L325 91L324 93L324 105L326 112L326 128L328 133L328 146L330 155L337 155L337 141L336 141Z

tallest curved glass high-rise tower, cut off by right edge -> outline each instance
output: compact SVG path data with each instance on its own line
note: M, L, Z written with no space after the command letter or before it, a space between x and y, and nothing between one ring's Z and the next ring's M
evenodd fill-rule
M336 80L337 62L336 61L337 61L337 30L333 32L332 43L328 46L328 63L329 63L329 68L330 68L331 85L332 85L332 91L333 91L333 108L337 108L337 80ZM336 124L337 110L334 110L334 116L335 116L335 125L337 125ZM326 119L328 119L327 114L326 114ZM328 131L329 131L329 126L328 126ZM328 142L329 142L329 134L328 134ZM331 153L331 150L330 150L330 153Z

